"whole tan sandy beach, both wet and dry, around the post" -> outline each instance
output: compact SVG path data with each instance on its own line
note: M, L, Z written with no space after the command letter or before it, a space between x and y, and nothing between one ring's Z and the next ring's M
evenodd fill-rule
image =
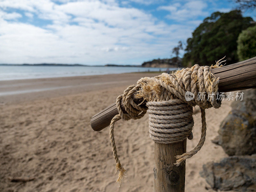
M95 132L90 118L115 102L124 89L144 76L130 73L47 79L0 81L0 191L3 192L148 192L154 189L154 143L148 116L120 120L115 126L118 155L126 179L116 184L115 161L108 127ZM203 148L186 162L187 192L213 192L199 176L202 165L227 157L211 140L218 135L230 101L206 110L207 134ZM193 140L200 138L201 116L193 115ZM11 182L8 177L35 178Z

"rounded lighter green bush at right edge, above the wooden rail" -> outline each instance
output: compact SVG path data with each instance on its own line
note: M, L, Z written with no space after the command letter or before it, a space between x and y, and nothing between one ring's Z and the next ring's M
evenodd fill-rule
M243 30L238 36L237 55L240 61L256 56L256 25Z

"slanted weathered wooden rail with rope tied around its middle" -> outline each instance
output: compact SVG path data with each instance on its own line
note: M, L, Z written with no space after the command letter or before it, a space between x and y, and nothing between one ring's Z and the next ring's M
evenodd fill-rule
M211 70L216 78L220 78L219 92L229 92L256 88L256 57L241 61L232 65ZM134 100L139 104L142 100ZM146 102L143 103L146 105ZM124 113L124 104L121 102ZM118 114L116 103L103 109L91 119L91 126L94 131L100 131L110 124L111 119Z

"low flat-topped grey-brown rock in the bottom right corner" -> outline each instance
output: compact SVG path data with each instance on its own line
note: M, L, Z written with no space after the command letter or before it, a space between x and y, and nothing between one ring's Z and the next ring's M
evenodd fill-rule
M211 188L251 192L256 189L256 154L229 156L219 163L209 162L200 172Z

